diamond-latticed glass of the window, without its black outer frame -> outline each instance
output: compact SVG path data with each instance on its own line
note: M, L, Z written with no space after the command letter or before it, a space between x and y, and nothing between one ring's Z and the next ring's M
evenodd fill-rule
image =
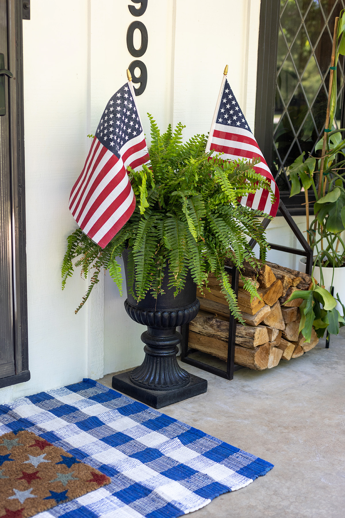
M274 113L273 171L287 185L284 169L312 153L323 134L335 17L345 0L281 0ZM343 120L343 63L336 73L336 125ZM279 183L280 182L280 183Z

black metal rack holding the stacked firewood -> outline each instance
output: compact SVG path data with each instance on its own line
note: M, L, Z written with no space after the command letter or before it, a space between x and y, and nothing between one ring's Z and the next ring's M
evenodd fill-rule
M292 229L292 232L298 239L299 243L302 244L303 250L297 249L297 248L291 248L291 247L284 247L280 244L274 244L269 243L269 246L273 250L279 250L281 252L288 252L296 255L303 255L306 257L306 273L308 275L311 275L312 270L312 250L303 236L302 232L297 227L296 223L291 217L291 214L289 213L286 206L281 202L279 202L278 212L280 212L280 215L286 220L289 227ZM271 220L264 219L262 222L262 225L264 228L266 228ZM254 246L257 244L255 239L251 239L248 243L248 247L250 249L253 249ZM239 279L239 272L234 267L225 266L224 267L226 272L231 275L231 287L234 290L234 292L238 293L238 279ZM182 326L182 341L181 341L181 361L184 363L188 363L189 365L193 365L194 367L198 367L199 369L205 370L207 372L211 372L212 374L215 374L216 376L220 376L221 378L225 378L227 380L232 380L234 377L234 371L243 369L244 367L242 365L237 365L234 362L235 358L235 336L236 336L236 321L232 314L230 314L229 319L229 338L228 338L228 360L227 360L227 370L219 369L218 367L214 367L213 365L208 365L207 363L201 362L197 359L190 358L189 354L192 354L194 352L199 352L197 349L192 349L188 347L188 333L189 333L189 324L186 324Z

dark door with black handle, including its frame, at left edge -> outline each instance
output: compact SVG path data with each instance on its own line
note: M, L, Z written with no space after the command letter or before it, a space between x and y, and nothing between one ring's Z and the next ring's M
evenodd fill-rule
M0 68L5 70L5 74L0 75L0 387L30 378L27 357L22 4L22 0L0 0Z

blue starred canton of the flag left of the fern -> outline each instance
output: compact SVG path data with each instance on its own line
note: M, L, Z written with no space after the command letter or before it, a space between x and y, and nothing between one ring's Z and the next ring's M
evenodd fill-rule
M126 83L109 100L98 124L96 137L119 158L119 151L125 143L141 132L136 103Z

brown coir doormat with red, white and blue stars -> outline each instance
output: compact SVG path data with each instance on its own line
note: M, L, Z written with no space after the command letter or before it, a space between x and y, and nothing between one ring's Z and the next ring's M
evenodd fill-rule
M76 455L27 430L0 438L0 466L0 518L29 518L110 482Z

